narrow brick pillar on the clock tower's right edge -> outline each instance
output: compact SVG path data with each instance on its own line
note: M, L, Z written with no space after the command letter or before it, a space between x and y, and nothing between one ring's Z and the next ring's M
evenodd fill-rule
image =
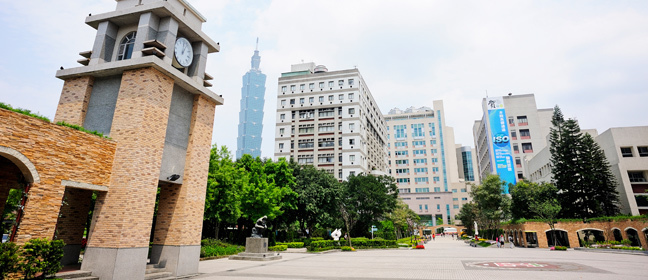
M193 104L183 184L165 186L160 193L157 245L200 245L216 104L198 95Z

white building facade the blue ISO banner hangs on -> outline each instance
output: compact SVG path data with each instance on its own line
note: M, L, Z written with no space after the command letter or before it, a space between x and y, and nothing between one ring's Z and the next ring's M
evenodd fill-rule
M498 165L495 164L496 157L502 155L503 152L496 151L494 147L504 143L510 145L509 155L504 155L510 156L510 162L507 162L510 164L509 172L514 174L513 180L521 180L528 175L525 173L526 161L547 146L546 136L551 128L553 109L538 109L533 94L496 98L501 98L503 101L504 114L502 116L505 118L503 122L506 125L502 125L502 127L506 126L506 129L502 131L507 131L506 135L501 135L502 131L493 131L493 127L499 127L499 124L494 124L489 119L489 104L493 98L484 98L482 100L483 117L481 120L476 120L473 125L479 177L485 178L488 174L498 174ZM501 170L502 166L499 167ZM502 174L500 176L503 177Z

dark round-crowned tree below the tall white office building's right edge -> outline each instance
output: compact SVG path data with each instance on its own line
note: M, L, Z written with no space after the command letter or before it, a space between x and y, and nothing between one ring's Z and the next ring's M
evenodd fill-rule
M396 207L398 188L389 176L361 173L343 182L338 206L349 234L361 235ZM357 224L357 225L356 225Z

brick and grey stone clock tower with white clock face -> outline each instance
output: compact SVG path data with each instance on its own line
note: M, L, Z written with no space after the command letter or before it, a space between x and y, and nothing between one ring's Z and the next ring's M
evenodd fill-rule
M116 2L115 11L86 18L97 35L80 53L82 66L56 73L65 82L55 122L116 142L81 269L102 280L144 279L147 264L196 274L214 110L223 104L205 65L220 46L186 0Z

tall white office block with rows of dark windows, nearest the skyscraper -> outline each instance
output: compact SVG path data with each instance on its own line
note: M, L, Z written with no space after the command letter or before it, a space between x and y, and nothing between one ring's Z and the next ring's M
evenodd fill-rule
M275 159L312 164L345 180L387 171L385 121L358 69L302 63L282 73Z

